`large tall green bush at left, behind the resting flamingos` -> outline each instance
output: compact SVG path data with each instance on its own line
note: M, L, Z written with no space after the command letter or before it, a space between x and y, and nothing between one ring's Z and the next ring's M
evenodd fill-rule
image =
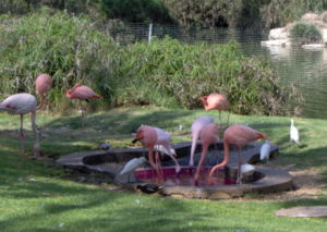
M1 97L34 91L40 73L53 77L50 91L55 109L70 108L64 93L81 82L110 103L110 89L104 82L111 72L118 46L95 28L87 16L70 16L41 9L22 17L0 19ZM108 82L109 83L109 82Z

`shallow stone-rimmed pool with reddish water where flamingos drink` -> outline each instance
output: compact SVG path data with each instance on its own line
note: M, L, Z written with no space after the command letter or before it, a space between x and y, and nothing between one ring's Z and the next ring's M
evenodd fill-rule
M251 143L242 150L243 162L255 163L259 161L259 148L262 143ZM292 190L292 176L283 171L255 167L255 170L243 175L243 184L235 184L238 170L237 152L231 149L231 156L228 164L218 170L213 178L214 181L207 182L207 175L210 167L222 160L222 143L210 147L205 167L201 171L201 179L194 182L195 169L190 169L189 155L191 143L174 144L173 148L182 169L177 174L173 162L169 157L162 157L164 181L160 183L162 195L187 198L207 198L222 199L243 196L245 193L268 193L277 191ZM201 151L201 144L196 151ZM270 157L278 155L278 147L271 145ZM156 184L156 174L149 164L136 169L134 172L119 175L124 164L132 158L147 156L145 148L128 148L97 150L88 152L75 152L63 156L57 160L57 163L71 169L77 169L89 172L99 172L110 176L114 183L130 188L137 190L140 185ZM198 161L198 155L195 157L195 167Z

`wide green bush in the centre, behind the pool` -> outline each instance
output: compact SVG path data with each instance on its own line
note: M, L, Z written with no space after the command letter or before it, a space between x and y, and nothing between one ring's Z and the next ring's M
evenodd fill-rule
M116 102L194 109L199 97L227 95L233 112L282 114L286 94L267 62L242 56L239 45L185 45L166 37L130 45L122 53Z

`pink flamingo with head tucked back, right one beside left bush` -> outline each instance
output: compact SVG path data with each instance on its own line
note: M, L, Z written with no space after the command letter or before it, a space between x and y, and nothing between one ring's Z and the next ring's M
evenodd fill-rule
M97 99L97 98L102 98L100 95L96 94L93 89L90 89L89 87L82 85L80 83L77 83L73 88L69 89L65 93L65 96L70 99L78 99L78 100L85 100L88 102L89 99ZM83 113L83 108L81 106L82 109L82 125L83 125L83 118L84 118L84 113Z

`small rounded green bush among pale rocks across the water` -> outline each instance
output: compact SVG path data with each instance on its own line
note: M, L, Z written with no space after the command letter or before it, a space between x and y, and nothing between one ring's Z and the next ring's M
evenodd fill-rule
M296 23L290 30L290 37L295 45L319 42L322 34L319 29L312 24Z

